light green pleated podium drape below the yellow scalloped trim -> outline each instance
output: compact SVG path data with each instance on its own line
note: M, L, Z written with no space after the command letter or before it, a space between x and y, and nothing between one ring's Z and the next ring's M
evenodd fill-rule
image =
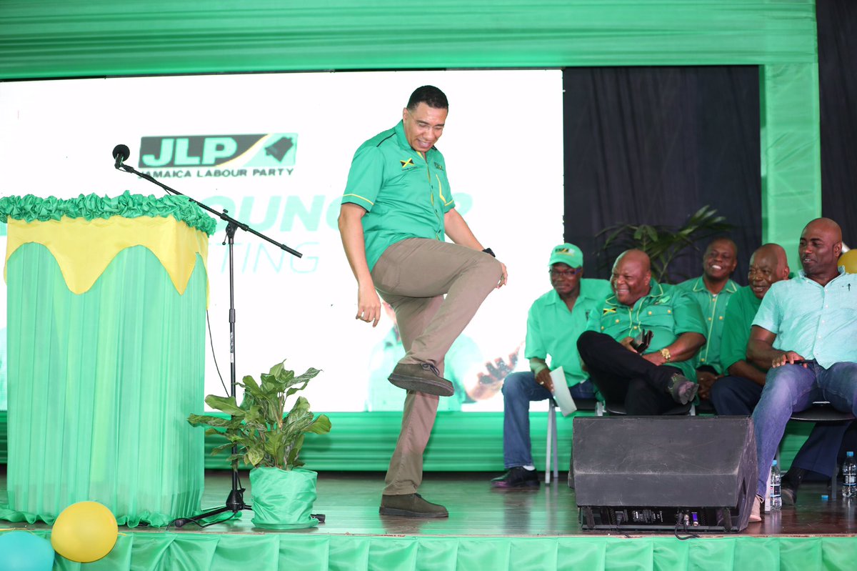
M9 258L7 520L51 523L104 503L120 524L195 513L203 485L200 412L207 276L197 256L179 295L142 246L92 289L69 292L57 261L27 243Z

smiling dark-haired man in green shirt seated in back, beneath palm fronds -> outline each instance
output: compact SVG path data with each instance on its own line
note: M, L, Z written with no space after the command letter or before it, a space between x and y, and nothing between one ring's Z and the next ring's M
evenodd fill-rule
M700 399L709 398L711 385L726 370L720 358L721 339L726 305L732 294L738 291L738 284L730 279L737 265L738 248L735 243L727 237L715 238L702 256L703 274L678 285L699 304L707 325L705 345L693 359Z

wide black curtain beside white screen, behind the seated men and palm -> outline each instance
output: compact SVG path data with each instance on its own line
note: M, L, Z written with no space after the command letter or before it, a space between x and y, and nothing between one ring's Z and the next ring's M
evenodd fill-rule
M609 275L603 228L681 225L709 205L734 225L733 278L746 284L761 243L758 67L574 68L563 86L565 238L587 275ZM702 273L697 246L670 266L674 279Z

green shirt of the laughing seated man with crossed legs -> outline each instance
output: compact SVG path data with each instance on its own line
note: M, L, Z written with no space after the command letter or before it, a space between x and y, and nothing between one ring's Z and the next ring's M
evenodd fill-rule
M651 345L645 351L660 351L679 338L680 334L705 334L708 329L703 322L698 304L686 292L675 285L659 284L654 279L649 282L649 295L639 298L633 307L620 304L613 293L597 304L590 313L586 329L608 334L620 341L626 337L636 337L640 329L652 332ZM688 379L696 380L696 368L693 359L670 363L681 370Z

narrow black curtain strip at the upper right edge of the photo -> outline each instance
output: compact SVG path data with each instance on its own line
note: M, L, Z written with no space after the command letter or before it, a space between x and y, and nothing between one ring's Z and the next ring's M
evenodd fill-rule
M821 212L857 248L857 2L818 0Z

